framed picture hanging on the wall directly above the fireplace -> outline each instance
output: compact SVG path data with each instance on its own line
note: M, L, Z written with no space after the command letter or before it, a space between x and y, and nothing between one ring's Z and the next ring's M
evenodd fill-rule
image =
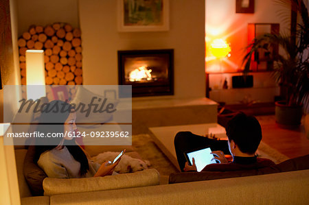
M169 29L168 0L118 0L119 32L163 32Z

